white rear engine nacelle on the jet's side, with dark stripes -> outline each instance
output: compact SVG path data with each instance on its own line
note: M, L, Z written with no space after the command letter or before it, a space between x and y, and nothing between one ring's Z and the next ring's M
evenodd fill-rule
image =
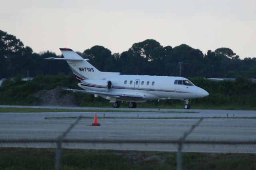
M80 85L85 89L91 90L110 90L112 88L112 83L105 79L88 79L81 81Z

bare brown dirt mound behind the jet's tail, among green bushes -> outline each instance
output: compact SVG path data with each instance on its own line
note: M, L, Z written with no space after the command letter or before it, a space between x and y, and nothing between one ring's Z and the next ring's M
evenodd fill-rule
M65 87L58 86L52 90L41 90L32 95L40 99L33 105L41 106L78 106L74 94L69 91L62 90Z

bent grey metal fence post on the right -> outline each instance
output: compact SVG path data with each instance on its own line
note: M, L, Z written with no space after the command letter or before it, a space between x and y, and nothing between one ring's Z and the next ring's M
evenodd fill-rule
M180 138L180 142L178 143L178 151L177 151L177 170L182 170L182 147L183 142L186 139L186 137L202 122L203 118L199 119L199 121L192 125L190 130L188 132L185 132L184 135Z

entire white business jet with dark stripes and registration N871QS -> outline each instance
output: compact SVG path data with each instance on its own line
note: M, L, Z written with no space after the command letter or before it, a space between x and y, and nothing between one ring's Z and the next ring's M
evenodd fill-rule
M64 58L46 58L66 60L76 78L78 86L84 90L65 89L75 92L94 94L103 97L119 107L119 101L129 102L130 108L136 103L180 99L186 101L184 109L190 109L188 99L202 98L209 95L207 91L195 86L184 77L120 75L117 72L101 72L69 48L60 48Z

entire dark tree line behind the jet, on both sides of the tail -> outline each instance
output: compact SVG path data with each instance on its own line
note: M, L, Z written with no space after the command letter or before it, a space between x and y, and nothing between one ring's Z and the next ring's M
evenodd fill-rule
M83 52L82 57L100 71L116 71L133 75L168 75L182 77L245 77L255 78L256 57L240 59L232 49L221 47L203 54L186 44L162 46L148 39L134 43L127 51L112 53L95 45ZM48 61L47 57L61 57L53 52L35 53L15 36L0 30L0 78L17 74L30 77L38 74L68 75L71 71L65 61Z

